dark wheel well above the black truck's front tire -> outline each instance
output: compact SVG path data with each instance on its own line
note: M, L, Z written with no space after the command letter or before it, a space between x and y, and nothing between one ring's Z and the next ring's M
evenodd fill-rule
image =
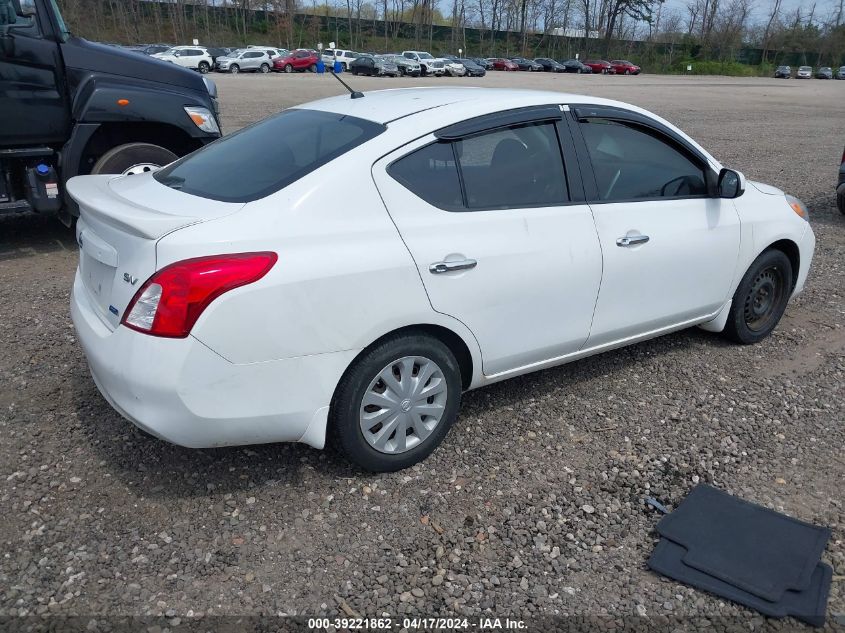
M103 123L89 139L82 152L79 174L90 174L97 160L110 149L125 143L151 143L184 156L202 147L175 125L166 123Z

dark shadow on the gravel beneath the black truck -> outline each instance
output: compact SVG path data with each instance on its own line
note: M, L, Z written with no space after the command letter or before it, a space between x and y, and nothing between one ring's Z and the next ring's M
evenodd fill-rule
M54 217L35 213L0 216L0 262L76 250L73 230Z

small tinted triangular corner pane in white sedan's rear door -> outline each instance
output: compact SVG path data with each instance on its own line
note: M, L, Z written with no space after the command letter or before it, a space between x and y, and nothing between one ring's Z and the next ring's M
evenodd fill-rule
M463 205L451 143L426 145L391 164L388 173L435 207L449 209Z

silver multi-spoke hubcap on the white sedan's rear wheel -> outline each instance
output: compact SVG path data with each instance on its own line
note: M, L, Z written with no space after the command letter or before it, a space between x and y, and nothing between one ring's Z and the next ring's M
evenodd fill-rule
M373 378L361 400L361 432L380 453L421 444L443 418L448 389L437 363L422 356L393 361Z

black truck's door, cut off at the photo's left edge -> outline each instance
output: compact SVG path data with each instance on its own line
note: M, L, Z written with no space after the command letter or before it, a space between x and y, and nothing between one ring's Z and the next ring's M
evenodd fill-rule
M63 39L31 2L13 6L15 23L0 25L0 138L7 147L64 143L71 119Z

